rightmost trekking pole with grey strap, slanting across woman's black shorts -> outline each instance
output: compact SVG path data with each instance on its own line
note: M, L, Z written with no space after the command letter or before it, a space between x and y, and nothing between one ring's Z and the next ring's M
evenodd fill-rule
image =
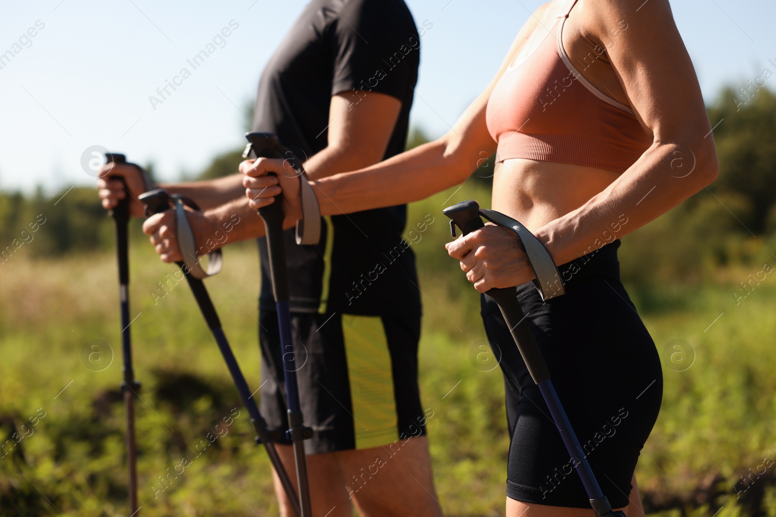
M520 222L494 210L480 210L480 205L471 200L449 206L442 212L451 219L450 229L453 237L456 236L456 226L459 227L463 235L485 226L480 215L490 222L513 230L514 233L518 234L528 261L536 273L537 281L535 284L538 284L537 287L542 299L548 300L556 295L563 295L563 284L559 280L558 270L552 257L549 256L542 243ZM518 302L515 288L492 288L487 291L487 295L493 298L501 308L501 314L504 315L514 343L520 350L525 366L528 367L528 373L531 374L539 391L542 392L542 398L544 398L550 414L553 415L553 420L561 438L563 438L566 450L572 458L577 459L577 474L582 480L587 497L590 498L590 505L595 515L599 517L625 517L624 512L615 512L611 509L608 499L598 486L598 481L587 462L587 457L584 455L577 435L574 433L571 422L566 416L566 411L553 387L553 381L549 378L549 369L542 356L542 351L539 350L539 345L536 343L531 327L528 326L528 321L525 321L525 315Z

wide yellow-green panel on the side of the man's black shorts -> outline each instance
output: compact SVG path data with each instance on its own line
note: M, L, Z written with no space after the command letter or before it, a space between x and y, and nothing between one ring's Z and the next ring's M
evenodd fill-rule
M342 315L348 358L355 448L368 449L399 439L393 368L383 320Z

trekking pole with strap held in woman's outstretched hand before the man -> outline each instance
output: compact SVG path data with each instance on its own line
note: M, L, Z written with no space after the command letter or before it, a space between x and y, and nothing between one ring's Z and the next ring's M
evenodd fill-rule
M306 195L311 191L306 191L304 185L307 184L304 177L302 165L293 157L285 147L280 145L277 136L272 133L246 133L248 146L245 148L243 157L271 157L286 158L296 169L300 181L303 183L303 205ZM283 243L283 209L281 205L281 196L275 196L275 202L258 209L258 215L262 217L267 235L267 249L269 255L269 271L272 278L272 294L275 296L275 309L278 312L278 326L280 329L280 346L283 360L283 377L286 381L286 405L289 415L289 429L286 436L293 443L293 454L296 462L296 481L299 485L300 503L302 507L302 517L310 517L312 509L310 507L310 484L307 477L307 459L304 453L304 440L313 436L313 430L303 424L302 409L299 401L299 388L296 384L296 367L293 340L291 338L291 315L289 311L289 282L288 269L286 267L286 249ZM313 194L314 197L314 194ZM309 198L308 198L309 199ZM309 207L309 205L308 205ZM316 205L317 207L317 205ZM304 208L304 207L303 207ZM320 213L320 212L319 212ZM303 225L307 225L304 228ZM320 225L320 215L303 217L302 226L297 226L297 243L305 243L308 239L317 241L317 235L310 236L310 233L317 234L314 225ZM301 229L300 229L301 228ZM307 230L308 235L304 233ZM300 231L303 234L300 236Z

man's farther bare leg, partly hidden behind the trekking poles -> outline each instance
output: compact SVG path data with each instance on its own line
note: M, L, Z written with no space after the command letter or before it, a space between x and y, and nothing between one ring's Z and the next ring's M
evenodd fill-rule
M293 446L276 444L280 460L296 486L296 464L293 459ZM352 517L353 506L345 490L343 477L338 464L338 453L310 454L307 456L307 474L310 477L310 501L313 505L313 517ZM275 471L275 494L280 503L280 517L294 517L286 492Z

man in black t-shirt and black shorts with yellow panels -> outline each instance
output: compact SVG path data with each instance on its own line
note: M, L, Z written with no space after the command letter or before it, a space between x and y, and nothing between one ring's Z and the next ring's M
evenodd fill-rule
M420 38L402 0L313 0L269 60L258 86L254 129L276 133L306 160L310 178L375 164L404 150L417 81ZM144 190L129 167L106 166ZM248 207L241 174L213 181L163 185L196 200L190 212L196 245L224 222L228 242L262 236ZM123 197L118 181L99 181L103 206ZM142 215L138 202L131 213ZM292 333L300 399L314 437L306 441L314 515L441 516L425 436L431 408L417 388L421 304L414 255L401 233L406 207L394 206L322 221L320 243L297 246L286 232ZM162 260L181 260L171 212L144 224ZM262 414L285 429L279 329L262 258L260 343ZM300 346L303 345L303 346ZM293 450L279 444L296 480ZM282 515L292 515L275 476Z

